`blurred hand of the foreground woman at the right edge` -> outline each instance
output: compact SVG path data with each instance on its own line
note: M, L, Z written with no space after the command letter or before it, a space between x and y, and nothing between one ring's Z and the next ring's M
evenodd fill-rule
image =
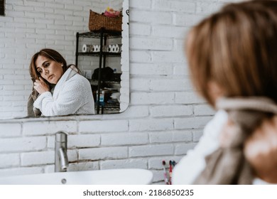
M246 139L244 156L259 178L277 183L277 116L265 119Z

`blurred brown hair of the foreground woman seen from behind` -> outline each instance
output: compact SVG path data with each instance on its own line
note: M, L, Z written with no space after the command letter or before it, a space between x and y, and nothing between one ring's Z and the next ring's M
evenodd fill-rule
M277 1L228 4L188 34L192 82L214 105L207 83L225 97L266 96L277 102Z

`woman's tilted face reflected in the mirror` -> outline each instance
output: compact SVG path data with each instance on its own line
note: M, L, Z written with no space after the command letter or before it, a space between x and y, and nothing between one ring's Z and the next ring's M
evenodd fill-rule
M54 85L58 83L63 75L63 65L61 63L41 55L38 55L36 59L36 70L43 79Z

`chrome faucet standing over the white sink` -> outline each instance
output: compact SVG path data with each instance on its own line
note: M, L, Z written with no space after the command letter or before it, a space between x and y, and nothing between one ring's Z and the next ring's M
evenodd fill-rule
M65 172L67 167L67 134L58 131L55 135L55 172Z

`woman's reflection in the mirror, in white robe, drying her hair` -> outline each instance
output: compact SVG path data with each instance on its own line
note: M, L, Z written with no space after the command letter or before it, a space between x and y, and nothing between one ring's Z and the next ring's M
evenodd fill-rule
M56 50L45 48L33 55L29 70L33 80L29 117L94 114L89 81Z

